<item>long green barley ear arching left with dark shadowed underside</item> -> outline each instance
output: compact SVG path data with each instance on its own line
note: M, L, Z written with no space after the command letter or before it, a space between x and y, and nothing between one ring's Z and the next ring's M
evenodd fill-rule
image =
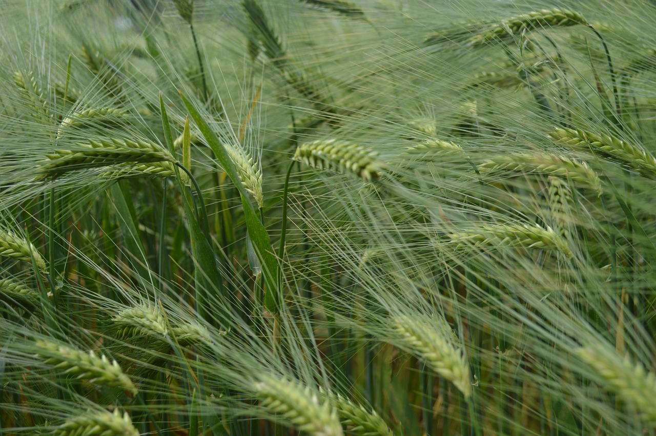
M41 177L57 176L64 172L87 168L106 167L121 163L175 162L169 151L152 141L102 138L77 142L79 149L58 149L48 155L41 165Z

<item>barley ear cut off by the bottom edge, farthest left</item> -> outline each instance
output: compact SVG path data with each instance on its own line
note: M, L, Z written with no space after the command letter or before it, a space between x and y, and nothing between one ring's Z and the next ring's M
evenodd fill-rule
M129 414L121 414L119 409L112 412L104 410L89 411L80 416L72 416L57 427L58 436L139 436Z

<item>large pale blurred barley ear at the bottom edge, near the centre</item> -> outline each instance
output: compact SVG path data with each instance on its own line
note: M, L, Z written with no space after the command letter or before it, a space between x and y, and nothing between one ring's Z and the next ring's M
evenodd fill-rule
M310 387L289 378L262 375L252 386L260 406L288 420L298 431L314 436L342 436L337 410L319 401Z

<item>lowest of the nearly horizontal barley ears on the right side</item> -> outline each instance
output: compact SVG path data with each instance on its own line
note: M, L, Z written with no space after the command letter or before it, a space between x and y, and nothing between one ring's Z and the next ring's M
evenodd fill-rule
M574 254L567 242L554 231L537 224L486 224L470 231L459 231L448 235L457 245L485 245L499 247L539 248L560 251L568 258Z

